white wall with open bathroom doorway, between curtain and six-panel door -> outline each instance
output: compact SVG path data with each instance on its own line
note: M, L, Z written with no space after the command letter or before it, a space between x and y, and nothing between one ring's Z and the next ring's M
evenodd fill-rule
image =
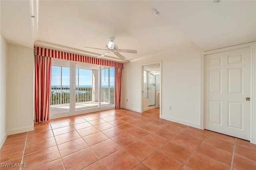
M125 63L122 75L122 107L141 111L141 65L161 60L162 118L199 128L202 52L198 47L189 47ZM172 106L171 110L169 106Z

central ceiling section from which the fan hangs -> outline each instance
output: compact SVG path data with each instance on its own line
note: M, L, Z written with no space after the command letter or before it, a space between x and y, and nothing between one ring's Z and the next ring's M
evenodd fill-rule
M185 46L192 41L147 1L39 1L38 39L97 54L109 37L127 60ZM114 54L109 56L116 57Z

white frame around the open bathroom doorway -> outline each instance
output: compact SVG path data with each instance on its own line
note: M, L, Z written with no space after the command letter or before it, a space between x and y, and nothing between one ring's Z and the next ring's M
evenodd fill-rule
M162 117L162 61L155 61L152 63L146 63L146 64L141 64L140 66L140 113L143 113L143 86L144 86L144 66L152 65L152 64L160 64L160 99L159 99L159 117Z

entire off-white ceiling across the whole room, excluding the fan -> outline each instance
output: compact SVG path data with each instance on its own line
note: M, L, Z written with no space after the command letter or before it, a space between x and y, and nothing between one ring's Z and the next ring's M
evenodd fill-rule
M1 35L7 43L91 57L106 51L83 47L104 49L109 37L115 37L120 49L138 51L122 53L126 61L195 45L208 51L256 41L256 1L1 0L0 4ZM154 8L160 16L154 16ZM113 54L106 59L126 62Z

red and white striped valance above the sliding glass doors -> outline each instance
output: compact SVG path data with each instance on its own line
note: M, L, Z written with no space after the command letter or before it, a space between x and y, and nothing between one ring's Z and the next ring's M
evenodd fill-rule
M35 50L36 55L39 55L39 56L46 56L46 57L52 57L56 59L64 59L64 60L70 60L70 61L78 61L78 62L90 63L90 64L98 64L102 66L124 68L123 63L118 63L115 61L107 61L103 59L97 59L93 57L87 57L87 56L67 53L63 51L46 49L42 47L35 47L35 49L36 49Z

